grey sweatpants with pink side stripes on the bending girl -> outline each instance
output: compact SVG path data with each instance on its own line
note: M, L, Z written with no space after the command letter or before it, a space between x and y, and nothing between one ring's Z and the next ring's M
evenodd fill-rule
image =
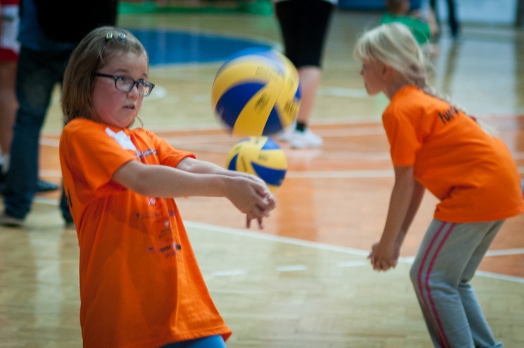
M435 347L474 347L476 342L502 347L495 342L470 284L501 225L437 220L430 224L410 276Z

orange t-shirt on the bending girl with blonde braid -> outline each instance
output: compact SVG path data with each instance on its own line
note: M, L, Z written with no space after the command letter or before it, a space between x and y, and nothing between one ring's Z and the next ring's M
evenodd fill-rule
M521 177L506 145L472 117L414 86L402 87L382 115L394 166L440 203L435 219L487 222L521 214Z

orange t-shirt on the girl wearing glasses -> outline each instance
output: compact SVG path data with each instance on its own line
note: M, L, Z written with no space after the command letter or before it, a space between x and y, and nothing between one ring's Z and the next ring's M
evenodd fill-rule
M160 347L231 335L170 198L136 194L111 177L128 161L175 167L177 151L145 129L73 119L60 139L64 188L80 246L84 347Z

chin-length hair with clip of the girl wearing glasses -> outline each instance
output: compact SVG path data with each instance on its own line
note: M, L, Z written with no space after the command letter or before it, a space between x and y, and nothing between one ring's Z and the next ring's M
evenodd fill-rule
M80 41L71 54L64 73L64 89L61 94L64 124L77 117L96 117L93 105L94 74L108 64L110 59L127 52L143 55L149 63L142 43L124 29L99 27Z

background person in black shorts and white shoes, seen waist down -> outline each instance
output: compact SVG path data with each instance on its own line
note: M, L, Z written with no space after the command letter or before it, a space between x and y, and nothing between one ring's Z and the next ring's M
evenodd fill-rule
M321 147L308 128L322 78L322 55L337 0L273 0L284 40L284 54L298 68L302 100L296 125L279 135L292 148ZM294 129L293 129L294 128Z

